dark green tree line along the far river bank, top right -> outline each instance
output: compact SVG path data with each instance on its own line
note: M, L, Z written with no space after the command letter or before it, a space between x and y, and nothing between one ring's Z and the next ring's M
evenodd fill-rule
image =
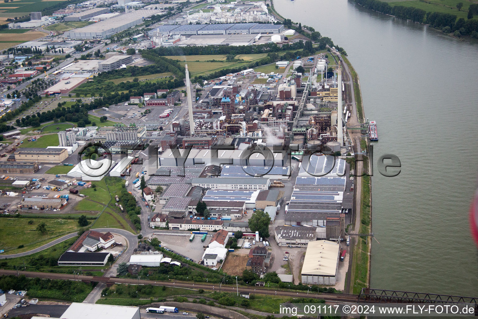
M463 18L456 20L456 14L452 13L426 12L413 7L391 6L389 3L380 0L355 0L355 2L364 8L391 14L397 18L427 23L445 33L454 32L456 36L471 35L472 37L478 37L478 21L472 19L473 14L478 13L478 4L470 5L468 20L465 21Z

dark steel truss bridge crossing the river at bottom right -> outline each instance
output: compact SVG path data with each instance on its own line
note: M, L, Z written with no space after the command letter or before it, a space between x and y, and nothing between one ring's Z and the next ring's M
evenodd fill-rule
M410 291L362 288L359 303L466 303L478 304L478 297L437 295Z

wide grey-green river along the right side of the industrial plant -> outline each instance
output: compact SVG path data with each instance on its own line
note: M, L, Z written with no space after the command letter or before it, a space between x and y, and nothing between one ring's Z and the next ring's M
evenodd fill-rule
M274 0L283 17L343 47L360 77L382 154L402 172L372 177L370 286L478 296L467 209L478 171L478 43L347 0Z

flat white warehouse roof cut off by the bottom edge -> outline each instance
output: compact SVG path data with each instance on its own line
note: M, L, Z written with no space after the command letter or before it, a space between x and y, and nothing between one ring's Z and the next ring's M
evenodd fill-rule
M138 307L72 303L62 319L131 319L138 317Z

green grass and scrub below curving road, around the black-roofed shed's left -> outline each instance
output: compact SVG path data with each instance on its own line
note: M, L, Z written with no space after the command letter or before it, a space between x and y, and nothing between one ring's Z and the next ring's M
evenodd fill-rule
M33 253L28 256L11 258L7 260L1 260L0 264L3 269L15 269L15 266L19 270L25 271L38 271L38 272L55 272L55 273L67 273L73 274L73 271L78 270L78 266L57 266L56 261L65 251L73 245L78 239L78 236L70 238L64 242L60 242L50 248L42 250L38 253ZM50 266L50 258L52 259L52 265ZM102 276L101 269L108 269L108 266L82 266L81 269L85 273L91 272L91 275Z

